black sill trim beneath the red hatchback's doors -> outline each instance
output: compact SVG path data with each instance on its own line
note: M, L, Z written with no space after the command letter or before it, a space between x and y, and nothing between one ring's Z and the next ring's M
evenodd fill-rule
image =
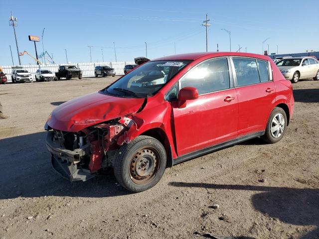
M228 146L231 146L231 145L246 141L248 139L252 139L252 138L256 138L256 137L262 136L264 134L265 134L265 131L260 131L260 132L248 134L248 135L245 135L245 136L242 136L242 137L238 137L238 138L235 138L233 140L230 140L230 141L227 141L227 142L224 142L224 143L216 144L216 145L208 147L208 148L203 148L203 149L191 152L191 153L187 153L185 155L182 155L180 157L175 158L173 160L173 165L176 165L178 163L181 163L181 162L193 159L193 158L197 158L199 156L202 156L204 154L208 154L208 153L217 151L217 150L222 149L222 148L226 148Z

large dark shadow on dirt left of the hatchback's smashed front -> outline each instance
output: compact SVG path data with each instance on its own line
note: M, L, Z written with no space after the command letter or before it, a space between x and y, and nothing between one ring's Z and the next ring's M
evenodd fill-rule
M69 196L114 197L130 194L119 186L113 170L87 181L63 179L51 166L46 132L0 139L0 199Z

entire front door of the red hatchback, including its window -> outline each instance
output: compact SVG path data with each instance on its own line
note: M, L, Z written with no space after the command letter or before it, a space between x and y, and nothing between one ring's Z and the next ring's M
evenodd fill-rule
M195 87L199 97L178 108L172 102L178 156L237 136L237 96L229 58L213 58L198 64L179 81L179 89Z

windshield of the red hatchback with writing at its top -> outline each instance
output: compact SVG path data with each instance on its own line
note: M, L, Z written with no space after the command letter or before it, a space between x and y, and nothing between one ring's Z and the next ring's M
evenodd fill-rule
M189 60L150 61L100 91L120 97L154 96Z

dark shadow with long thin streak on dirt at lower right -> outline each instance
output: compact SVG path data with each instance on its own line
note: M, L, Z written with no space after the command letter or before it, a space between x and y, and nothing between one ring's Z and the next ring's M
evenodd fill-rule
M255 209L287 224L316 226L301 239L319 238L319 189L185 182L169 184L175 187L256 191L251 199Z

